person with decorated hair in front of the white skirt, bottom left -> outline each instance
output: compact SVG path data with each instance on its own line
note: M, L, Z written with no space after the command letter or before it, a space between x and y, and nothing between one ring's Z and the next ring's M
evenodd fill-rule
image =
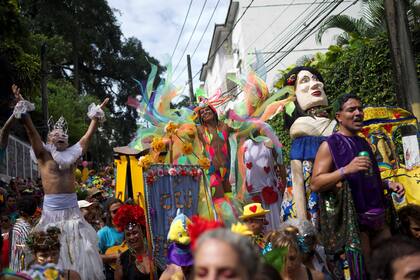
M60 270L56 267L60 257L60 233L59 228L50 227L46 232L33 232L28 237L27 245L35 262L25 273L33 279L81 279L74 270Z

